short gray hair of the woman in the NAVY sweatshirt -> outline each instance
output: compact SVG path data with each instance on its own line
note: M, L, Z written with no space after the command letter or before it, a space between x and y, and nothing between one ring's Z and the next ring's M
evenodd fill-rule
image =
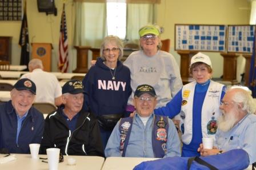
M104 52L104 49L105 49L105 46L106 44L110 44L110 43L116 43L117 44L117 47L119 48L119 56L118 56L118 59L121 60L121 58L123 57L123 43L121 41L121 39L117 36L114 36L114 35L109 35L107 37L105 37L101 43L101 51L100 51L100 55L101 55L101 58L103 60L105 60L105 57L103 55L103 52Z

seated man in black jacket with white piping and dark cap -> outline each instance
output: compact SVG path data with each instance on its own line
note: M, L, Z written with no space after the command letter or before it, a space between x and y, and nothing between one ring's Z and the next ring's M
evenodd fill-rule
M63 155L103 156L97 120L82 110L83 84L70 80L62 87L63 104L45 119L41 153L60 148Z

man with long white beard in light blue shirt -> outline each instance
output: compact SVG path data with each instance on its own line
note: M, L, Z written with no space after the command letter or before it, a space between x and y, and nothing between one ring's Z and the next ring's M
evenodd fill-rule
M222 116L218 119L213 149L204 149L200 144L201 156L216 155L231 149L244 149L250 164L256 161L256 104L250 91L242 88L227 90L219 107Z

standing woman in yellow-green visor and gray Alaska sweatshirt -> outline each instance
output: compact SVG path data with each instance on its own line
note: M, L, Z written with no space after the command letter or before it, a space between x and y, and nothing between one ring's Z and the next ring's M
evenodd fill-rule
M139 29L141 50L135 51L123 63L131 72L132 94L126 111L133 112L133 96L141 84L150 84L157 93L157 106L169 102L182 87L181 74L174 56L161 51L160 31L157 25L146 25Z

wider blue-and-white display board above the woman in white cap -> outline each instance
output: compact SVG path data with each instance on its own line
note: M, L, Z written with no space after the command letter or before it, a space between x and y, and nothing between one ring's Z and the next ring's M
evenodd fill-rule
M175 50L225 52L226 26L176 24Z

